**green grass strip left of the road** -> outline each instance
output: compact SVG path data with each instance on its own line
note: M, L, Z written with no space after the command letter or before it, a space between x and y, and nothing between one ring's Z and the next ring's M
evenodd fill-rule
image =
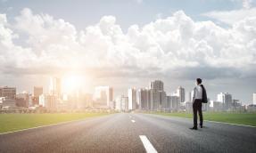
M0 114L0 133L107 114L109 113Z

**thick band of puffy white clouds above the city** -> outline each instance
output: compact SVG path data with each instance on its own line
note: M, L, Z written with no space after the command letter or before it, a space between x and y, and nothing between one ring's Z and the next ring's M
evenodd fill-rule
M5 15L0 15L2 73L77 68L98 76L255 76L253 17L221 28L212 21L194 21L179 11L143 27L132 25L127 33L113 16L103 16L82 31L65 20L29 9L15 20L14 28L7 28ZM13 43L18 34L28 36L26 47Z

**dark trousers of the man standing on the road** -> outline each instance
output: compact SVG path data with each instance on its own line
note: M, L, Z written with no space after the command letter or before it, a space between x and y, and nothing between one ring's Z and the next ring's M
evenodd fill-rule
M193 103L193 117L194 117L194 126L197 127L197 112L200 118L200 125L202 125L202 100L194 100Z

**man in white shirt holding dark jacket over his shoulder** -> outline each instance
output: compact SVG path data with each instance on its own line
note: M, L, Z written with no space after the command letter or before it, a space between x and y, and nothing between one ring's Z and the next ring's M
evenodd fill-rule
M196 78L196 83L193 90L193 116L194 116L194 126L191 128L192 130L197 130L197 112L200 118L200 127L202 128L202 102L207 102L206 91L202 85L202 79Z

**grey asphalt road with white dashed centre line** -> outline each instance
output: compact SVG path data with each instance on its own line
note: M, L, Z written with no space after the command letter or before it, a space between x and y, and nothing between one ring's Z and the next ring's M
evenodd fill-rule
M2 124L2 123L1 123ZM0 135L0 152L256 152L256 128L120 113Z

